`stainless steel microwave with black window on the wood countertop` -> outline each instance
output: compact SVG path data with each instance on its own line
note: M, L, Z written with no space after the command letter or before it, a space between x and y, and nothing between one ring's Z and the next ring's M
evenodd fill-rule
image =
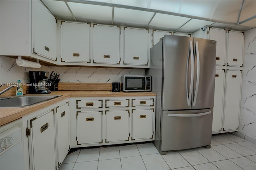
M121 85L125 92L151 91L151 75L122 75Z

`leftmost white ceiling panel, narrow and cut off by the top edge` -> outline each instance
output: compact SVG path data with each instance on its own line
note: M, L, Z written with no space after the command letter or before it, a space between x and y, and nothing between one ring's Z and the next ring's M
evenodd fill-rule
M50 9L54 16L60 20L74 20L65 2L44 0L44 4Z

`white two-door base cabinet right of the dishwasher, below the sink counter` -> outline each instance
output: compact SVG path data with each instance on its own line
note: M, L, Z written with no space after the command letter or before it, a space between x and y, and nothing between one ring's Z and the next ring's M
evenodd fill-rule
M57 170L70 150L68 101L28 115L30 169Z

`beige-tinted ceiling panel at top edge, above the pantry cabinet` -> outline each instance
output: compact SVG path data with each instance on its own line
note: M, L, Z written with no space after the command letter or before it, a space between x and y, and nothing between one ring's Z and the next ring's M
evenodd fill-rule
M224 22L237 22L242 0L222 0L218 4L212 19Z

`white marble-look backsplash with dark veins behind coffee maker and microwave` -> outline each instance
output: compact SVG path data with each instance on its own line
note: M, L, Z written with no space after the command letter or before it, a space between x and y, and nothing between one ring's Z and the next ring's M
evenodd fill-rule
M18 57L17 57L18 58ZM94 68L94 67L49 67L40 69L20 67L14 58L0 57L0 83L30 83L28 71L48 71L60 74L60 82L70 83L112 83L120 82L121 75L144 75L144 69Z

